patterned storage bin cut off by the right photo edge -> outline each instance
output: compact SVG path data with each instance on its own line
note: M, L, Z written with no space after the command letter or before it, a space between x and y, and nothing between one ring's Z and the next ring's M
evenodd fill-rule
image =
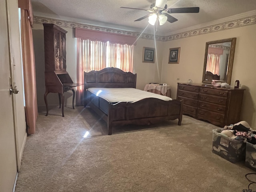
M246 142L245 165L256 171L256 145Z

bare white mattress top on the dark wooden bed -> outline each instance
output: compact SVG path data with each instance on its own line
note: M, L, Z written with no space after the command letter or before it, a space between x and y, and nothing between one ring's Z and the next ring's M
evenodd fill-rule
M158 98L164 101L172 100L170 97L142 91L135 88L88 88L88 91L104 98L108 102L136 102L144 98Z

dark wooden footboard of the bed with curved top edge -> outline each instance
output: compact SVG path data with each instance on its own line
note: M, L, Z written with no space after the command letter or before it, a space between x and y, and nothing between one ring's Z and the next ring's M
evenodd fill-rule
M112 134L112 127L127 124L154 124L163 120L178 119L182 121L182 103L179 100L164 101L157 98L145 98L138 102L120 102L109 104L108 134Z

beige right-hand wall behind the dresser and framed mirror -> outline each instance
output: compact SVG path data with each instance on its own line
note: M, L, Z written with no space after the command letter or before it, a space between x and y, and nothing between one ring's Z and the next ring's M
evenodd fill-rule
M202 82L205 43L208 41L236 37L236 48L232 70L231 86L236 80L246 89L241 111L241 120L256 128L256 25L250 25L220 32L214 32L180 40L165 42L162 63L162 82L170 84L172 98L176 98L177 82ZM169 48L180 47L180 63L168 64ZM177 80L180 78L180 80ZM236 122L234 122L236 123Z

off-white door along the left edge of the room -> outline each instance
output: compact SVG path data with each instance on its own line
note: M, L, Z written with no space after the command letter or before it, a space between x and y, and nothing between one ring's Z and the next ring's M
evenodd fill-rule
M8 0L0 0L0 191L12 192L17 174L15 96L10 94L14 85L10 43Z

